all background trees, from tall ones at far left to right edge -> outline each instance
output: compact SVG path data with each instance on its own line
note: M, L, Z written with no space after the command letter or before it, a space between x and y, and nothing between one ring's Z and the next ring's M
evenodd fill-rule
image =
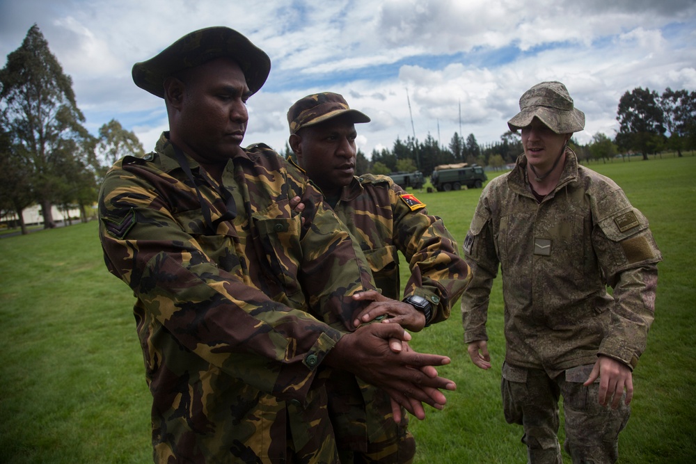
M696 147L696 92L667 88L661 95L648 88L626 91L617 108L619 131L613 138L597 133L580 145L581 161L612 159L617 154L648 154L672 150L679 157ZM49 49L36 24L22 45L8 54L0 70L0 220L16 216L22 233L22 211L38 204L45 228L55 227L52 207L77 208L81 221L97 199L106 170L121 157L143 156L132 131L111 120L97 136L84 127L72 79ZM397 138L391 149L372 150L368 159L358 150L356 172L388 174L420 170L429 175L440 164L466 162L501 169L523 151L518 133L479 144L474 134L456 132L446 146L428 134L424 141ZM292 157L285 145L285 157Z

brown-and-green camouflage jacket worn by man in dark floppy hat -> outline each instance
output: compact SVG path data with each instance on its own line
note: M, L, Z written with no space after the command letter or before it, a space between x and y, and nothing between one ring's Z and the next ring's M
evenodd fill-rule
M106 265L137 298L155 461L333 461L317 372L359 310L351 294L374 288L365 258L268 147L228 161L220 186L166 135L111 168L99 204Z

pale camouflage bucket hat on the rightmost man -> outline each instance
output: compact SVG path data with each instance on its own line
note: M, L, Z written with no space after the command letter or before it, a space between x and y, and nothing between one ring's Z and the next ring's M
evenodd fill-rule
M570 134L585 128L585 113L576 109L567 88L560 82L541 82L520 98L520 112L507 122L511 131L522 129L539 118L556 134Z

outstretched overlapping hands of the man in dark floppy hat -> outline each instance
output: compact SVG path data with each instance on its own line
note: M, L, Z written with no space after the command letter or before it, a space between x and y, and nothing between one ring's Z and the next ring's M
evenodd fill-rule
M450 358L418 353L410 346L395 352L389 346L390 339L408 342L411 335L397 324L369 324L343 335L325 362L381 388L409 413L425 419L422 403L442 409L447 399L440 390L457 388L434 370L435 366L449 364ZM400 417L395 411L395 420Z

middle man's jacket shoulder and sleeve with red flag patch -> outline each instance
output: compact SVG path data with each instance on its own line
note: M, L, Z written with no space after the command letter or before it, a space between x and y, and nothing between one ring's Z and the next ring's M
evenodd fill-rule
M343 190L334 211L359 243L384 296L401 300L399 254L411 277L404 297L418 295L432 303L432 322L450 317L471 275L459 257L457 242L438 216L384 175L356 177Z

